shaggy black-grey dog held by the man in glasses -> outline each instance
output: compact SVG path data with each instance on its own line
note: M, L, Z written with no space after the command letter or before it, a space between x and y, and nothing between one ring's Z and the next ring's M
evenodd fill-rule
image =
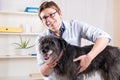
M73 59L87 54L93 45L77 47L55 36L41 37L39 43L40 54L46 62L58 60L53 70L56 80L84 80L96 71L102 80L120 80L120 49L117 47L107 46L85 71L78 74L79 61L73 62Z

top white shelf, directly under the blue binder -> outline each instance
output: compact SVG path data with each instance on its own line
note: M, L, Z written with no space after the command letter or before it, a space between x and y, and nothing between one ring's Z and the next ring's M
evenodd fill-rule
M0 11L0 14L4 15L30 15L30 16L38 16L38 13L32 13L32 12L9 12L9 11Z

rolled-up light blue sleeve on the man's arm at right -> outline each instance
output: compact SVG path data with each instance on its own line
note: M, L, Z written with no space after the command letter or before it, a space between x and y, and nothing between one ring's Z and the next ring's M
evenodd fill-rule
M92 42L95 42L97 38L100 37L108 38L109 42L111 41L111 36L107 32L98 27L94 27L93 25L88 25L87 23L81 22L78 23L78 28L80 28L81 37Z

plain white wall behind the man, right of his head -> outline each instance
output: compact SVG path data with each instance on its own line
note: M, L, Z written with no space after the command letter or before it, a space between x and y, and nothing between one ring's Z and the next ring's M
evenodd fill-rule
M64 20L77 19L87 22L108 32L113 38L113 0L53 1L59 4ZM88 43L83 41L84 44Z

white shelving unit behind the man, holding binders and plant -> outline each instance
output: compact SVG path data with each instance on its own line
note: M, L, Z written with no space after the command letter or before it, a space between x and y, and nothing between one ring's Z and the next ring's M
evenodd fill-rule
M36 56L16 55L16 47L13 45L19 42L19 36L30 39L30 44L34 44L36 37L44 30L37 13L24 12L25 7L29 5L29 3L25 5L26 2L28 1L0 0L0 28L20 27L23 29L22 32L0 32L0 80L2 77L6 79L7 77L17 77L17 79L28 77L30 73L39 71ZM30 6L34 5L34 0L29 2ZM36 53L35 47L29 52Z

